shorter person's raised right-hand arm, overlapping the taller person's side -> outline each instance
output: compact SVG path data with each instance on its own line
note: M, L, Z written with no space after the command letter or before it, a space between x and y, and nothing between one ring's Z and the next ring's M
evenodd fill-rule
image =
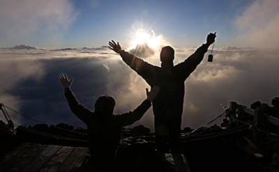
M146 88L146 100L144 100L139 107L137 107L134 111L130 111L129 113L116 116L116 118L119 120L119 123L121 123L121 126L131 125L137 120L140 120L144 113L151 107L151 102L155 99L159 91L160 88L158 86L153 86L150 92Z

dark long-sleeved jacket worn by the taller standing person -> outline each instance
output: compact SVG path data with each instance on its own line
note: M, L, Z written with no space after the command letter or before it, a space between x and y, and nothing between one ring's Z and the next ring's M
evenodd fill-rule
M178 65L171 64L170 70L146 63L140 58L121 51L123 61L140 75L151 87L159 86L160 92L153 100L153 113L163 118L182 115L184 81L204 58L208 45L202 45L194 54Z

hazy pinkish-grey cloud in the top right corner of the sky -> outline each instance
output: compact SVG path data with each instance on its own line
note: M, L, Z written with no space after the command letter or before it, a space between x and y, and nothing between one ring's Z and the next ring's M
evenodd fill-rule
M257 0L241 15L234 26L239 31L236 37L239 45L246 47L278 48L279 1Z

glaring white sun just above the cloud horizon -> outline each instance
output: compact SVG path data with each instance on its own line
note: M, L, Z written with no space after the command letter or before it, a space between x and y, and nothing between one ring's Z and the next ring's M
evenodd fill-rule
M162 44L162 36L156 36L153 30L145 31L137 29L132 33L130 40L130 49L134 49L137 45L148 45L153 49L157 49Z

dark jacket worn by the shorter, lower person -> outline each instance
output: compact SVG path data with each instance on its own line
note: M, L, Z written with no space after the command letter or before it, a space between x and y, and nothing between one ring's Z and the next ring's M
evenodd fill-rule
M91 157L110 159L114 157L121 138L121 127L131 125L140 120L151 107L149 100L144 100L137 109L126 114L104 116L86 109L77 102L70 89L65 91L68 104L73 113L86 123L89 131L89 150ZM104 118L105 117L105 118Z

